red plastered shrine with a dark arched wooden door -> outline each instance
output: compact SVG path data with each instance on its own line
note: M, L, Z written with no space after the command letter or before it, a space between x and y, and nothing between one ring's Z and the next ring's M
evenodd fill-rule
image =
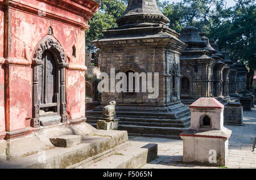
M85 121L85 30L99 6L0 1L0 160L47 148L35 132Z

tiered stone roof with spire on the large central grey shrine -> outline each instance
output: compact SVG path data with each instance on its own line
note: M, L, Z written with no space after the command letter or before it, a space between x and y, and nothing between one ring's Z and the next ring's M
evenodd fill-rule
M155 0L130 0L125 13L117 20L118 27L104 31L104 37L93 43L100 49L121 49L129 43L118 42L116 45L116 41L161 38L161 42L155 40L152 43L162 46L167 42L182 51L186 45L179 40L179 33L167 27L168 23L170 20L159 11ZM108 43L108 47L104 42Z

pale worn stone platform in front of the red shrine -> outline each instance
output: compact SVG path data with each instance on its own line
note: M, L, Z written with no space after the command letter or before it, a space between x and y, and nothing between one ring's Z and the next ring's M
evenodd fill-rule
M75 138L76 143L71 143L71 147L56 147L49 140L53 137L62 140ZM81 142L79 137L82 139ZM48 128L10 139L8 142L1 140L0 168L86 168L130 145L127 131L97 130L85 122L67 127ZM136 148L141 149L141 146L134 147ZM6 150L2 152L3 149ZM150 148L144 151L149 153L148 149ZM150 156L144 151L143 153ZM147 157L136 161L135 164L142 165L145 161Z

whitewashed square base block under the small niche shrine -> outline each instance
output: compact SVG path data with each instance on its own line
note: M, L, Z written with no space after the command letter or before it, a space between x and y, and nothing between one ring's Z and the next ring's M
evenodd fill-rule
M212 131L189 129L180 134L183 139L183 162L226 166L228 139L232 131L224 128Z

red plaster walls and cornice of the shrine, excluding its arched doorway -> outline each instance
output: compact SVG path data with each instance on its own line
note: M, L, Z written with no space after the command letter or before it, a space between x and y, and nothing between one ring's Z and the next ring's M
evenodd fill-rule
M89 0L14 0L9 4L8 53L10 92L10 118L5 120L5 71L0 65L0 132L6 131L5 121L10 121L10 131L30 126L32 117L32 58L38 42L47 35L48 28L64 49L67 63L66 101L69 119L85 117L85 29L88 20L98 10L98 5ZM77 2L77 3L76 3ZM54 5L54 3L57 3ZM70 6L68 6L68 3ZM51 6L52 5L52 6ZM62 6L62 7L61 7ZM38 7L46 10L46 16L38 15ZM44 13L44 12L42 12ZM0 0L0 46L4 47L2 0ZM72 57L72 46L76 57ZM0 48L0 58L3 50ZM0 63L3 63L0 59ZM80 71L83 70L83 71ZM7 76L8 77L8 76ZM9 114L7 113L7 116ZM8 118L7 118L8 119Z

